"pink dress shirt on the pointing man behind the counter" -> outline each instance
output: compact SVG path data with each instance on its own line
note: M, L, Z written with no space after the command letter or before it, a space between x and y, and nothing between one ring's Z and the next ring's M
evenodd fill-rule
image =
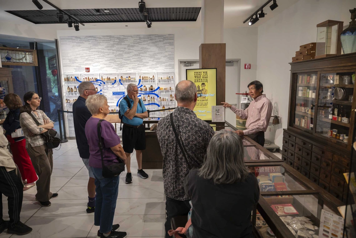
M246 130L244 135L256 134L259 131L266 131L272 115L272 103L266 95L253 100L245 110L232 106L230 109L242 119L246 120Z

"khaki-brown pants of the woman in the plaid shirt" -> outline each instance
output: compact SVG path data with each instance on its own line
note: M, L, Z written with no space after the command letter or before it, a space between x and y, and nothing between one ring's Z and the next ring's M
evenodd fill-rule
M36 182L36 200L47 202L53 195L53 193L49 191L53 169L53 151L52 149L48 150L47 145L32 147L30 143L28 143L27 152L28 155L30 155L32 165L38 175L38 180Z

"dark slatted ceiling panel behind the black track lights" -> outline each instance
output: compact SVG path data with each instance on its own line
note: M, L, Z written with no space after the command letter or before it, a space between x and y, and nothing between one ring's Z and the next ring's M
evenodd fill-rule
M150 20L157 21L196 21L200 7L152 7L146 8ZM100 22L143 22L143 16L138 8L110 8L100 9L101 14L96 14L95 9L68 9L64 10L69 15L77 18L82 23ZM109 10L105 12L104 10ZM6 11L35 24L57 24L58 10L23 10ZM67 20L64 15L63 19Z

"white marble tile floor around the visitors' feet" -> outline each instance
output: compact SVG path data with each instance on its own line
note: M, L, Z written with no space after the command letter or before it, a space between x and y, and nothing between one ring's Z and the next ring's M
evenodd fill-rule
M51 191L58 197L51 199L52 205L40 207L35 201L36 187L23 193L21 221L33 228L23 238L85 238L96 237L99 227L94 226L94 213L85 212L88 202L88 170L79 157L75 140L62 144L53 151L53 173ZM121 174L114 224L127 237L164 237L165 201L162 169L145 170L150 176L143 180L137 171L135 154L132 154L131 184L125 183L126 172ZM2 197L4 218L7 214L7 200ZM0 238L9 238L5 232ZM12 235L11 238L20 237Z

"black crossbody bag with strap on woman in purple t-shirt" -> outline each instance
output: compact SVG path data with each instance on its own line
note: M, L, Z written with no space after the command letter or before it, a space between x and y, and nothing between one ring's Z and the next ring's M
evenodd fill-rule
M116 157L117 162L106 161L107 165L104 164L104 152L103 152L103 141L101 140L101 126L100 123L103 120L99 120L97 124L98 128L98 140L99 140L99 149L100 149L100 156L101 156L101 165L103 166L103 177L104 178L112 178L115 176L120 175L122 172L125 171L125 162L120 157Z

